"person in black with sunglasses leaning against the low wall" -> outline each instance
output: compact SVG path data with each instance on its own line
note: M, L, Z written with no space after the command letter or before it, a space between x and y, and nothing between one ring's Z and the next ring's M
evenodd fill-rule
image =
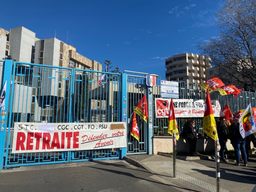
M191 156L198 156L196 153L196 136L198 133L196 132L196 128L193 127L194 121L188 120L186 121L186 138L188 138L188 142L190 144L190 155Z

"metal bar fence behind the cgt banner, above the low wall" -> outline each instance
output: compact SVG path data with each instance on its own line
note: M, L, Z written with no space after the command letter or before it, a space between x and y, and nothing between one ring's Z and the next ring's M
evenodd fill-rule
M157 79L157 85L161 87L161 79ZM206 91L199 87L200 84L194 83L186 83L186 82L179 82L179 99L205 99ZM161 89L156 88L153 89L153 95L155 98L161 98ZM228 104L231 112L233 114L237 113L241 109L245 109L250 103L252 107L256 107L255 97L256 92L250 91L242 91L238 97L234 97L233 94L221 96L218 91L213 91L210 93L210 97L212 100L218 100L220 102L221 109L224 108L226 104ZM153 100L153 102L155 102ZM155 103L153 103L155 106ZM177 125L179 128L179 132L182 132L182 127L185 122L192 118L176 118ZM215 118L216 120L218 118ZM199 135L204 135L202 132L202 120L203 118L193 118L195 121L195 127L199 132ZM154 133L153 135L169 135L168 130L168 118L156 118L155 117L155 110L153 113L153 122L154 122Z

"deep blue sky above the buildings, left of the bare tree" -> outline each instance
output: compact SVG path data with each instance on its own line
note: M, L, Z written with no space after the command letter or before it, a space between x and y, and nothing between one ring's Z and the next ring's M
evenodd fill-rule
M165 58L192 52L218 36L215 13L222 0L5 1L0 27L24 26L40 39L55 36L79 54L120 71L165 78ZM67 38L68 35L68 38ZM68 41L67 41L68 39Z

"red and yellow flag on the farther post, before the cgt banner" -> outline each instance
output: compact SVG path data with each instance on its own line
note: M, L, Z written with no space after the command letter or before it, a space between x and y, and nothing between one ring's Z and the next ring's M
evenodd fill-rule
M176 122L176 117L174 114L174 106L173 106L173 101L171 99L171 105L170 105L170 110L169 110L169 117L168 117L168 133L173 134L175 133L176 139L179 140L180 134Z

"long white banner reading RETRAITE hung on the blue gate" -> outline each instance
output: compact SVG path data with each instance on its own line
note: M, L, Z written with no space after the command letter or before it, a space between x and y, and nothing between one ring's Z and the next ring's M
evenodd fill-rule
M126 148L126 123L14 123L12 153Z

